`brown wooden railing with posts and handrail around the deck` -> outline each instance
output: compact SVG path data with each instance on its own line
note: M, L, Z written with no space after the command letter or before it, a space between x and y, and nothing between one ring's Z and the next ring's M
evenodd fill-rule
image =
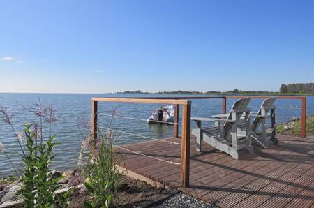
M132 98L92 98L91 132L94 141L97 140L97 116L98 101L121 103L160 103L175 106L174 112L174 138L179 137L179 105L181 111L181 186L189 186L190 178L190 114L191 101L193 99L222 99L223 113L227 112L227 99L250 97L252 99L266 99L271 96L181 96L181 97L132 97ZM277 96L278 99L299 99L302 102L301 109L301 136L306 138L306 97L304 96Z

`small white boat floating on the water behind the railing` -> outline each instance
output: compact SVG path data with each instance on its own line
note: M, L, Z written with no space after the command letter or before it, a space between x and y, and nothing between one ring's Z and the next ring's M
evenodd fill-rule
M154 110L151 116L147 119L147 123L173 123L174 121L174 106L167 105Z

